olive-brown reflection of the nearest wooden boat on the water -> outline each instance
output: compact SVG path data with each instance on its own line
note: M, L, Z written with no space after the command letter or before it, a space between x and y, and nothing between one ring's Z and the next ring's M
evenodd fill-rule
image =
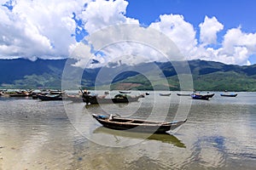
M170 133L137 133L130 131L119 131L107 127L97 127L93 133L108 134L120 138L155 140L166 144L173 144L180 148L186 148L186 145L183 144L180 139L177 139L177 137Z

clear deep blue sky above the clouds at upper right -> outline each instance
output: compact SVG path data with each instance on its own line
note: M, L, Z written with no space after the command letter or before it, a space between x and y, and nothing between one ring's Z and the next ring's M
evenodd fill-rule
M216 17L224 24L224 30L218 32L218 42L223 40L225 31L241 26L241 31L256 32L256 1L253 0L127 0L126 16L140 20L143 25L150 25L159 20L160 14L182 14L184 20L191 23L199 37L199 25L205 16ZM249 60L256 63L256 55Z

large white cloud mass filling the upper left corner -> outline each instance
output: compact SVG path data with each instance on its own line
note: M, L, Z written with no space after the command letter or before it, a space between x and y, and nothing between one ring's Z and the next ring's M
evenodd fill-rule
M12 10L0 6L0 58L66 58L75 43L73 12L83 7L82 0L19 0Z

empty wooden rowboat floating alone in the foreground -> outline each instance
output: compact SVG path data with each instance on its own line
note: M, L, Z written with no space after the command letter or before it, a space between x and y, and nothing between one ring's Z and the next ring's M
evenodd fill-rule
M117 116L102 116L96 114L92 114L92 116L97 122L100 122L103 127L142 133L166 133L166 131L173 130L187 121L186 119L177 122L154 122Z

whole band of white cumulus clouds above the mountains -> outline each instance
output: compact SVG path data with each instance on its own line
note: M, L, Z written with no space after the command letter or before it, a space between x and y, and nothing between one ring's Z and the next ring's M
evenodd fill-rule
M155 47L166 47L166 41L152 41L157 36L143 37L141 31L153 29L169 37L185 56L185 59L207 59L227 64L249 65L249 57L256 53L256 33L247 33L241 27L224 32L224 24L216 17L205 17L198 26L192 26L181 14L161 14L159 20L148 27L139 20L125 16L129 5L125 0L1 0L0 3L0 58L83 59L97 60L95 65L120 60L134 65L153 60L165 61ZM128 26L129 29L114 30L98 35L108 26ZM142 28L137 31L137 28ZM111 30L111 29L110 29ZM197 31L200 31L197 33ZM118 33L117 33L118 32ZM218 32L224 37L218 38ZM199 36L197 36L199 35ZM97 36L97 37L96 37ZM101 47L121 38L108 47ZM86 50L73 55L78 43L84 38ZM97 41L94 41L97 39ZM142 40L148 44L132 42ZM222 42L217 42L221 40ZM151 42L150 42L151 41ZM150 42L150 43L149 43ZM159 43L159 44L158 44ZM216 45L217 44L217 45ZM166 54L173 48L164 50ZM100 50L100 51L97 51ZM132 62L131 62L132 61Z

